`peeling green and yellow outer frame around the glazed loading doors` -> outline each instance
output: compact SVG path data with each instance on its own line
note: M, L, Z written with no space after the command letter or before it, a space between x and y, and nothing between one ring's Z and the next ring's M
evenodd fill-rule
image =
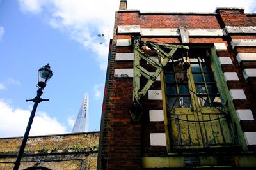
M211 68L212 68L212 74L214 76L214 79L216 80L216 86L220 92L221 100L223 100L223 111L227 113L230 113L230 118L232 120L232 124L230 123L230 126L235 129L237 138L235 136L236 145L242 146L243 150L247 149L246 141L243 136L243 131L241 130L241 125L239 124L239 118L236 115L236 108L234 107L234 104L232 103L232 97L230 96L227 82L225 81L225 78L223 76L223 71L220 66L220 62L218 62L218 56L216 54L216 51L213 47L213 45L195 45L195 46L189 46L189 48L208 48L210 60L211 60ZM193 75L191 75L193 76ZM166 97L166 83L164 82L164 71L161 72L160 75L161 78L161 90L163 95L163 111L164 111L164 127L165 127L165 134L166 134L166 149L168 153L173 153L171 150L171 141L170 141L170 131L169 131L169 122L168 122L168 107L167 107L167 97ZM209 96L209 94L207 94ZM192 97L191 97L192 100ZM222 106L221 106L222 107ZM204 108L204 107L203 107Z

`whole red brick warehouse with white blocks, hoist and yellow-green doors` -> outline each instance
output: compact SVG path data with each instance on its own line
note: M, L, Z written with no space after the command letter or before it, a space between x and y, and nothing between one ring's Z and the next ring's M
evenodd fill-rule
M98 169L256 166L256 13L141 13L120 1Z

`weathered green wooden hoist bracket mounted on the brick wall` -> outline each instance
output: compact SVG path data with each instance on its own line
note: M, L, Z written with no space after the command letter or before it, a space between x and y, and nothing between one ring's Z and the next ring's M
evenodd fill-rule
M131 113L132 119L134 122L138 122L141 118L143 113L143 107L140 104L141 97L145 96L145 94L150 89L151 85L156 81L156 78L159 76L161 71L163 71L163 67L170 60L173 59L173 55L177 51L177 49L184 49L188 50L188 46L183 45L170 45L167 43L154 43L151 41L141 41L140 39L134 39L134 77L133 77L133 96L134 101L132 107L130 108L129 112ZM157 53L159 62L150 59L150 55L143 52L141 46L147 46L153 52ZM179 58L182 58L180 55ZM156 67L156 71L154 73L150 73L147 69L143 68L140 65L140 59L144 59L150 64L151 66ZM147 83L140 87L140 78L141 76L147 78ZM141 89L141 90L140 90Z

